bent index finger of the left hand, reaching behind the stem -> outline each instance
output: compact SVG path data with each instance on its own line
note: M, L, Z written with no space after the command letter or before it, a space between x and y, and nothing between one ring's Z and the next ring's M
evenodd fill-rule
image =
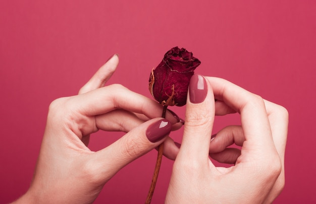
M141 94L130 91L120 84L112 84L71 97L71 108L84 116L96 116L115 109L141 113L148 118L161 117L163 106ZM166 118L173 124L179 122L170 112Z

